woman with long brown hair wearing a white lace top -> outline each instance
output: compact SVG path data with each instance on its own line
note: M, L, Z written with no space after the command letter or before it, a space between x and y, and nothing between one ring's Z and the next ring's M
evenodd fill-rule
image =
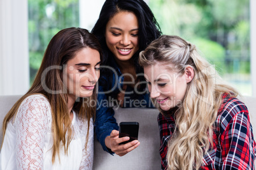
M92 169L96 109L87 103L101 56L85 29L53 36L31 88L4 117L1 169Z

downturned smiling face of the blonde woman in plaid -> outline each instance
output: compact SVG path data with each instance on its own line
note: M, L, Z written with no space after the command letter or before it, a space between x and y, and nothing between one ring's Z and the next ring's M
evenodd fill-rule
M156 63L144 67L150 97L155 98L162 110L169 110L180 104L187 91L187 72L178 74L170 64ZM174 67L173 67L174 68Z

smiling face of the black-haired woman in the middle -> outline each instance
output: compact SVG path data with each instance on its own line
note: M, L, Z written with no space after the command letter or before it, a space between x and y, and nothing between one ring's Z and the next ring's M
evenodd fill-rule
M139 25L134 13L120 11L106 25L106 44L116 60L127 61L139 49Z

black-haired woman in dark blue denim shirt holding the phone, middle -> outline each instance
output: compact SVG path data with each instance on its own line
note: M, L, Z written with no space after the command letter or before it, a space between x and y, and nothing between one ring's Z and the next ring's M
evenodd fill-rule
M153 107L138 56L161 32L143 0L106 0L92 34L99 39L104 55L97 97L96 135L105 151L122 156L138 147L139 141L119 145L129 138L118 138L113 105Z

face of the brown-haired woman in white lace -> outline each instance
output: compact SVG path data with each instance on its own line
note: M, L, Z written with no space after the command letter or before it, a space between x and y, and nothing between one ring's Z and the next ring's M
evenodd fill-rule
M83 48L67 62L64 70L64 84L68 89L69 98L88 97L93 93L99 79L99 51Z

